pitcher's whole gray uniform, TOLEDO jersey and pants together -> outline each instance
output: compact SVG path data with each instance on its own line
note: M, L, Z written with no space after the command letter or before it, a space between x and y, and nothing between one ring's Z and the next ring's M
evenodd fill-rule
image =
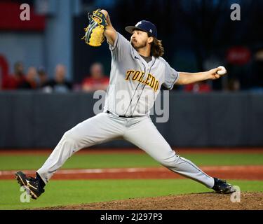
M48 160L37 171L43 181L47 183L81 148L125 139L171 171L212 188L213 177L191 161L176 155L149 117L161 85L171 90L179 73L162 57L151 57L147 63L119 33L109 49L112 52L112 69L104 112L84 120L63 135Z

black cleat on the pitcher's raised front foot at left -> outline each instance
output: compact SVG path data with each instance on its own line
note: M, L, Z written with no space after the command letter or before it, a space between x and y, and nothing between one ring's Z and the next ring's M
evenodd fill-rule
M31 176L27 177L23 172L15 173L15 179L18 180L20 186L24 186L28 190L32 199L38 198L42 193L45 192L41 187L39 179L35 179Z

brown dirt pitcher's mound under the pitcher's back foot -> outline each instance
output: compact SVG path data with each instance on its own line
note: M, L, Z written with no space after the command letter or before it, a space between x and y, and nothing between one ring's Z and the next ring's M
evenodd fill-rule
M78 204L65 207L45 209L86 209L86 210L246 210L263 209L263 193L241 193L240 202L235 195L217 193L198 193L188 195L169 195L162 197L145 197L112 202ZM236 195L238 196L238 195ZM231 201L232 200L232 201Z

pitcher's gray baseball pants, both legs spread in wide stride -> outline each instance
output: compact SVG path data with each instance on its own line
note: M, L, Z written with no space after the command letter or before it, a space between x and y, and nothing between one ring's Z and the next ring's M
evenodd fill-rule
M37 170L45 183L74 153L81 148L114 139L124 139L151 155L164 167L213 188L214 179L191 161L175 154L149 116L120 118L109 113L84 120L65 132L44 165Z

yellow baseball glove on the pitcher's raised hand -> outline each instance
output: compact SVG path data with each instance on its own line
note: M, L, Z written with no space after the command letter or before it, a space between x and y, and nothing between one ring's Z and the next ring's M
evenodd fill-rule
M81 40L93 47L99 47L104 41L104 31L107 27L107 18L100 12L100 8L95 10L92 15L88 13L89 25L84 30L85 35Z

